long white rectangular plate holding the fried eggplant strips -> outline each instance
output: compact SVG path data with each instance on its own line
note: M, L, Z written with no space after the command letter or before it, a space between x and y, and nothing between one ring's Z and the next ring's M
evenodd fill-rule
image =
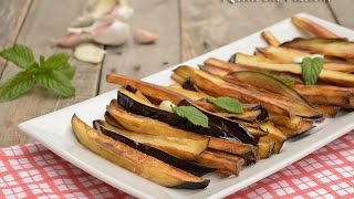
M341 36L354 40L354 32L348 29L308 14L302 15L319 22ZM274 33L281 42L302 35L290 19L269 27L267 30ZM267 44L260 38L260 32L257 32L181 64L197 66L197 64L201 64L210 56L228 60L235 52L252 53L254 48L264 45ZM173 81L169 76L173 69L175 67L150 75L144 81L162 85L171 84ZM73 114L76 113L80 118L91 124L94 119L103 118L106 104L114 97L116 97L116 91L111 91L73 106L24 122L19 125L19 128L79 168L117 189L139 198L221 198L291 165L354 128L354 113L342 113L336 118L325 119L319 124L317 127L306 134L308 136L288 142L281 154L244 168L238 177L220 178L210 174L205 176L205 178L211 179L206 189L169 189L111 164L76 142L70 124Z

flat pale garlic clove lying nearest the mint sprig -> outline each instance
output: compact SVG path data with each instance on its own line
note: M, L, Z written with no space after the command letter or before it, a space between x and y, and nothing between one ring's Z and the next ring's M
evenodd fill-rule
M74 56L83 62L101 63L104 57L105 51L92 43L82 43L75 48Z

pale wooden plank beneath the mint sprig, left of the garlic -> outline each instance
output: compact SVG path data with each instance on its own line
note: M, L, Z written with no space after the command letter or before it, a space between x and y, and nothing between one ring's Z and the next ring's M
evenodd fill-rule
M52 48L51 40L66 33L66 28L82 11L84 2L85 0L34 0L17 42L31 46L37 56L39 54L48 56L54 52L71 53L70 50ZM76 97L63 100L45 93L42 88L35 88L15 101L0 104L0 147L29 140L17 129L17 125L21 122L84 101L96 94L101 65L83 64L74 60L72 63L77 66L73 81ZM1 83L15 74L18 70L8 64Z

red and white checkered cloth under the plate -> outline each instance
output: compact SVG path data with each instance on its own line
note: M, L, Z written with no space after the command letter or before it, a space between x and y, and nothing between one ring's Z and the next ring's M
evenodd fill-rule
M228 198L354 198L354 130ZM0 149L0 198L132 198L38 143Z

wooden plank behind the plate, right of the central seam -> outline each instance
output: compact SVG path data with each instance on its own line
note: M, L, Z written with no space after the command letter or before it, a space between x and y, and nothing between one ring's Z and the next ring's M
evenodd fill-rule
M334 21L327 4L323 2L230 4L216 0L181 0L180 3L183 61L241 39L299 12Z

